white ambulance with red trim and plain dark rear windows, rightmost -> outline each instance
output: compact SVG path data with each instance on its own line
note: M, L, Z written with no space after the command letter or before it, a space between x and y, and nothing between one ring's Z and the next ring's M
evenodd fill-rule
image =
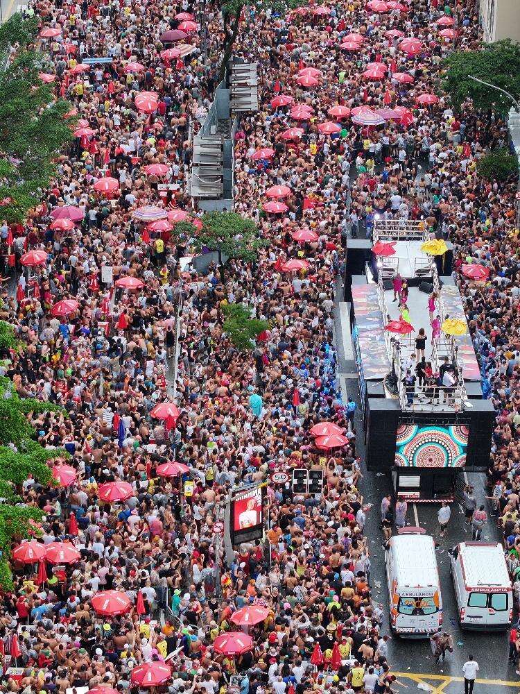
M501 545L460 542L450 555L462 629L508 629L513 617L513 593Z

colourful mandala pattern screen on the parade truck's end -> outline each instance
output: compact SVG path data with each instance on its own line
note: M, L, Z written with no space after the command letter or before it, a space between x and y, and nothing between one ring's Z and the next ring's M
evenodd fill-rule
M466 464L469 431L463 426L400 425L395 464L414 468L458 468Z

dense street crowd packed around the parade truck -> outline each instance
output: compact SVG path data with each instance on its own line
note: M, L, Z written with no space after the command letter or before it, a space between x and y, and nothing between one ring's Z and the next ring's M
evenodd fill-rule
M189 0L30 6L42 28L60 28L42 50L83 132L26 223L0 230L19 277L1 317L26 343L5 375L21 396L67 410L33 423L42 445L69 452L73 479L53 488L27 480L23 493L45 511L35 541L71 541L79 554L40 564L37 577L38 564L13 561L0 639L6 652L18 639L23 671L8 691L146 688L141 666L159 666L155 684L172 694L392 691L383 611L370 589L356 419L333 347L343 241L370 234L376 213L426 217L456 245L457 268L471 257L491 271L485 287L461 278L460 289L499 411L492 496L517 520L519 240L510 191L475 168L505 126L469 104L455 117L442 98L417 103L453 49L439 33L452 9L394 4L380 12L352 1L284 18L245 8L235 53L258 63L261 108L236 131L235 211L257 223L266 245L254 263L230 260L223 276L215 263L198 272L189 262L196 226L192 237L184 226L175 233L178 221L200 224L187 176L191 136L217 80L220 12L206 3L205 61L193 31L163 53L180 45L161 40L166 31L200 17ZM447 25L436 24L442 17ZM403 51L402 37L417 38L419 50ZM468 2L458 8L458 46L478 40ZM365 76L369 64L384 73ZM144 110L143 92L155 95ZM331 115L334 107L343 110ZM394 107L404 111L376 126L366 119L367 109ZM356 108L365 124L352 121ZM99 192L107 178L116 186ZM270 211L273 199L286 205L281 213ZM24 264L38 250L42 262ZM289 261L300 269L286 269ZM77 305L57 315L65 300ZM226 303L270 321L251 350L223 332ZM343 430L344 446L315 447L311 428L324 421ZM298 496L290 482L270 482L294 467L324 470L327 493ZM223 501L255 482L268 482L266 543L241 545L230 567L217 567ZM520 531L508 522L516 551ZM109 590L127 607L103 616L93 598ZM218 639L241 630L234 613L254 607L266 613L248 627L251 647L226 651Z

